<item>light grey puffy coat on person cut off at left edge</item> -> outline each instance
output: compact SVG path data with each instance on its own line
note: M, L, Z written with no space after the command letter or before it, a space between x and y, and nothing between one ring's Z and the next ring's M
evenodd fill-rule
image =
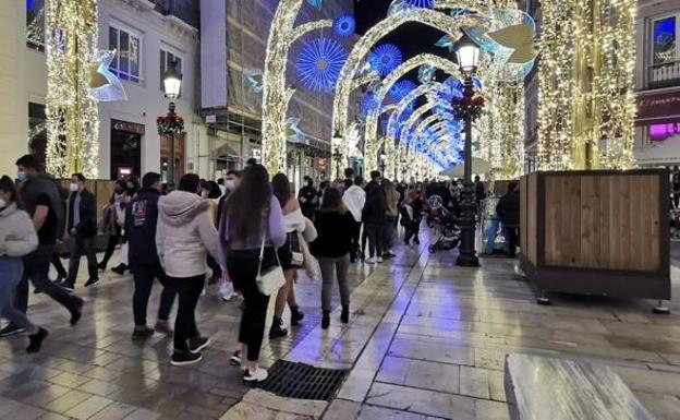
M20 257L38 248L33 220L16 203L0 211L0 256Z

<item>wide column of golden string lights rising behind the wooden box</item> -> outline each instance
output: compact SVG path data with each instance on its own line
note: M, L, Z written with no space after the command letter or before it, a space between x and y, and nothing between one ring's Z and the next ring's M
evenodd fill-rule
M542 3L541 169L634 165L636 7L634 0Z

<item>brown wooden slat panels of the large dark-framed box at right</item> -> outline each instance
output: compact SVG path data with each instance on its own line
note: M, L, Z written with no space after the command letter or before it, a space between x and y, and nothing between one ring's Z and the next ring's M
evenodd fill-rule
M545 175L545 264L657 272L668 228L659 223L660 182L658 175Z

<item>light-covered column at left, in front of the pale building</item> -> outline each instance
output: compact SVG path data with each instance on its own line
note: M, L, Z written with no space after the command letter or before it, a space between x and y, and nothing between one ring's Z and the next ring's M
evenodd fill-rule
M99 110L89 92L98 44L97 0L46 3L47 171L98 178Z

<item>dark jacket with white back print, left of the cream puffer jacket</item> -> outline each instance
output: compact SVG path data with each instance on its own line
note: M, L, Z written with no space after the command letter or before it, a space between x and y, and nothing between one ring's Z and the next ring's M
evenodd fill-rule
M125 235L127 236L127 262L135 265L159 264L156 249L158 225L158 200L160 193L142 189L125 208Z

